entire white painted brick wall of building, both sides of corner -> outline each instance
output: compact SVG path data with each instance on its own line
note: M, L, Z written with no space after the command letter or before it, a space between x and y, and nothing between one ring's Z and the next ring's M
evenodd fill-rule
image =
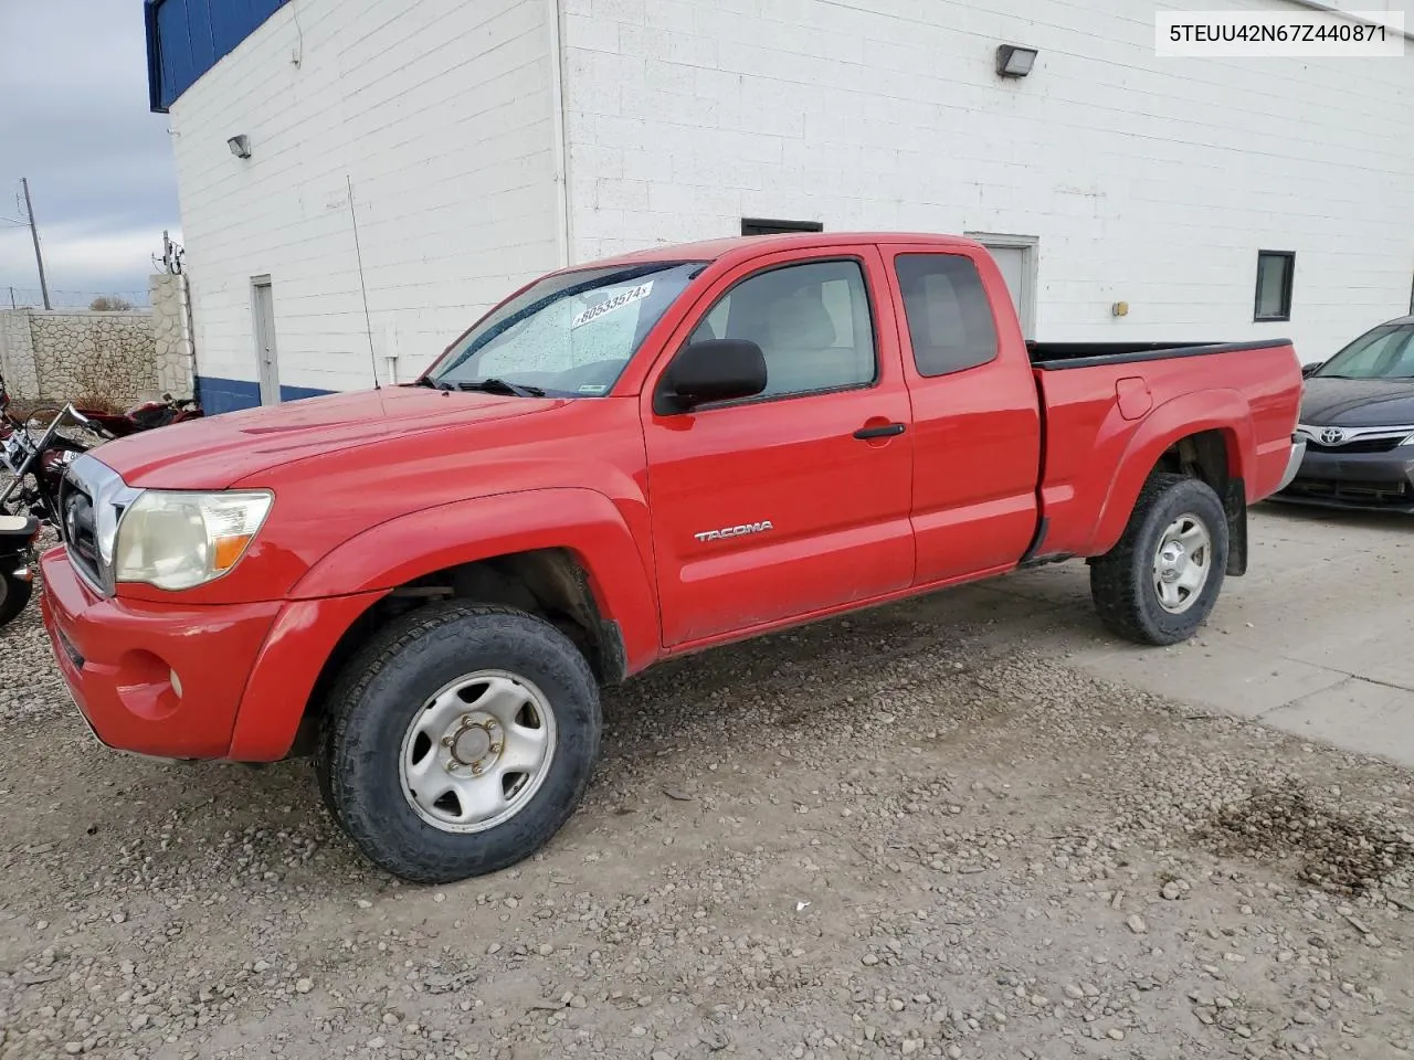
M253 386L249 284L269 273L281 383L368 384L345 174L385 379L383 353L411 377L566 249L742 216L1036 236L1052 341L1291 335L1315 359L1408 307L1414 48L1161 61L1150 0L559 6L568 232L553 0L298 0L177 100L202 376ZM1000 42L1041 49L1029 78L995 76ZM1297 252L1288 324L1251 321L1258 249Z

